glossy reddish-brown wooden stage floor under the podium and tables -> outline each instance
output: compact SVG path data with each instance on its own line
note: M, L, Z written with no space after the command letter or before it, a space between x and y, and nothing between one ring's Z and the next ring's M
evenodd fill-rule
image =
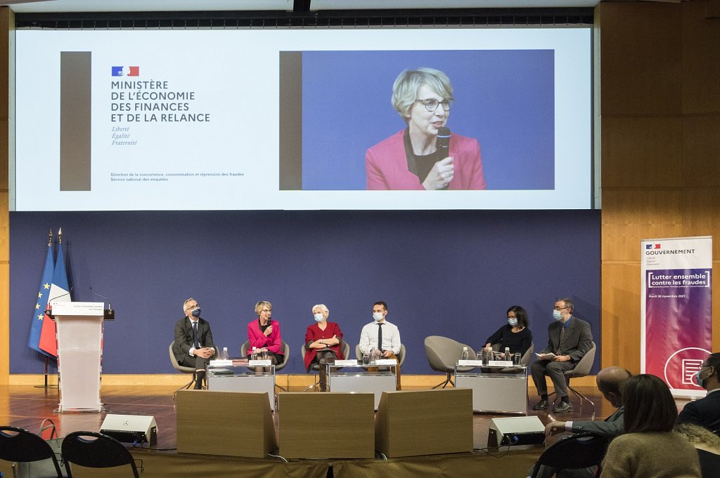
M174 449L176 446L175 408L173 392L176 387L168 386L106 386L102 389L102 401L106 413L118 415L153 415L158 424L158 449ZM413 390L405 387L405 390ZM415 388L414 390L422 390ZM602 420L613 413L612 406L603 399L595 387L578 387L578 391L595 402L595 420ZM300 390L291 390L293 392ZM530 406L536 401L531 389ZM282 393L282 392L281 392ZM308 392L313 393L313 392ZM0 386L0 425L27 428L40 431L40 423L50 418L57 427L58 435L65 436L71 431L99 431L105 413L53 413L58 407L57 388L45 390L27 385ZM579 403L572 397L575 410L557 415L558 420L590 420L592 412L588 405L580 410ZM274 414L277 415L277 414ZM537 415L543 423L553 420L554 414L528 410L528 415ZM490 420L508 415L475 414L473 416L474 448L487 446L487 430ZM275 416L275 426L278 418Z

